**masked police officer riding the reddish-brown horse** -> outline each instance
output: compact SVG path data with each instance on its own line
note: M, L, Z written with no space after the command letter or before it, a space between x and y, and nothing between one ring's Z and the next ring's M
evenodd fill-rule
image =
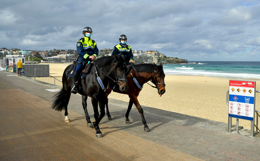
M114 50L111 55L123 54L125 57L126 65L133 63L133 53L129 45L126 44L126 35L120 35L119 44L115 45Z

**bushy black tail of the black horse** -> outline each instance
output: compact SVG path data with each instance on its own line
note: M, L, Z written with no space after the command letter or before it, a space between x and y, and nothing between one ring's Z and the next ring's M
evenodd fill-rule
M67 104L65 101L65 94L66 91L62 88L58 93L56 93L52 98L52 109L56 111L62 111L65 110Z

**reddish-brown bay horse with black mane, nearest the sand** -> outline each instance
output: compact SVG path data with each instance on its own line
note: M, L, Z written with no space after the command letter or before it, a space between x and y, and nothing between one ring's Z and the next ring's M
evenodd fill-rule
M130 98L128 109L126 111L126 124L131 124L128 117L129 117L129 113L132 108L132 105L134 104L142 117L142 122L144 124L144 130L147 132L150 131L148 125L146 124L146 120L143 116L143 109L142 109L141 105L139 104L137 97L143 87L143 84L147 83L148 81L151 81L155 85L155 86L152 86L148 83L150 86L158 89L158 94L161 97L165 93L164 77L165 77L165 74L163 71L162 63L160 63L159 66L156 65L155 63L154 64L132 65L129 74L126 76L129 89L126 92L117 91L118 93L123 93L123 94L128 95ZM112 89L110 87L111 86L109 85L107 95L109 95L112 91ZM108 120L111 120L112 118L111 118L109 110L108 110L108 99L106 100L106 113L108 115Z

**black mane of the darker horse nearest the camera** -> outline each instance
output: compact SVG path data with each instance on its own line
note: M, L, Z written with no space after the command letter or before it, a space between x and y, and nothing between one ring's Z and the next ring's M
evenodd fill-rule
M117 58L117 60L115 59L115 57ZM95 60L95 63L98 67L102 67L102 66L111 64L111 66L109 67L109 68L111 68L112 66L118 66L119 64L125 63L125 58L122 55L117 54L117 55L98 58ZM111 70L113 70L113 69L111 69Z

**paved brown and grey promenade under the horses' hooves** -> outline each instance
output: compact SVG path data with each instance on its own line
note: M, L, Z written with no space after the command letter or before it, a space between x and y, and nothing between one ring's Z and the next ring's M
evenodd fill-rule
M113 120L100 123L102 138L87 127L81 95L72 94L64 112L51 109L57 89L49 83L0 71L0 160L260 160L260 134L250 130L227 132L227 124L143 107L150 132L143 130L133 106L132 124L125 123L128 103L109 99ZM167 89L166 93L167 94ZM91 99L88 112L94 121ZM228 120L228 118L227 118Z

